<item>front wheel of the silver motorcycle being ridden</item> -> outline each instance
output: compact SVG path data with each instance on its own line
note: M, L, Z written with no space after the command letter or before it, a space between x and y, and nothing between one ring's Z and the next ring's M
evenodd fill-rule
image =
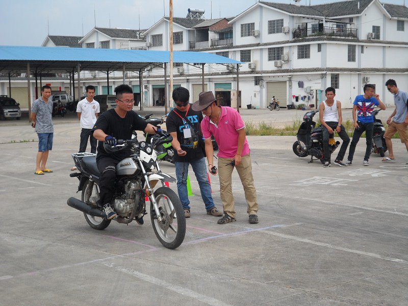
M155 191L157 205L163 221L159 221L150 201L150 220L160 243L169 249L179 247L186 235L186 217L182 202L173 190L160 187Z

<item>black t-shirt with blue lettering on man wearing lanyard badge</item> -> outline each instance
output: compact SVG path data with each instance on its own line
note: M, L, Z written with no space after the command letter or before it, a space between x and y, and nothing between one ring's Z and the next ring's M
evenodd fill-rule
M183 118L187 118L189 122L180 118L177 114ZM177 140L180 142L183 151L186 151L185 156L179 156L177 152L174 152L174 160L176 162L186 162L186 161L196 161L204 157L202 154L202 149L198 145L198 139L201 138L199 135L199 125L202 120L202 113L196 112L189 105L189 109L186 112L181 112L177 109L173 109L166 119L167 132L177 132ZM192 126L192 127L191 127ZM191 137L184 138L184 129L190 129ZM194 148L196 146L196 148Z

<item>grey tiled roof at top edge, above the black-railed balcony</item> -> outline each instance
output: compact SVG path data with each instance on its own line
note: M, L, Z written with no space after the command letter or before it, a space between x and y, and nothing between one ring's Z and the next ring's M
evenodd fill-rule
M260 1L259 3L278 10L288 12L290 14L336 17L347 15L359 15L373 1L374 0L350 0L312 6L296 6L293 4L270 3L263 1Z

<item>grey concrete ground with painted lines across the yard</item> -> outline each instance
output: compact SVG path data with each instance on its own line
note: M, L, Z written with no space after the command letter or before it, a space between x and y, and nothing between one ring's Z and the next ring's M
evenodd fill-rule
M300 113L241 111L245 120L283 122ZM2 305L408 304L408 154L398 139L395 162L372 155L363 167L362 139L352 166L325 169L294 155L294 136L250 136L260 222L248 223L236 172L237 222L225 225L206 214L190 175L186 238L169 250L148 215L143 226L112 222L95 231L66 205L80 197L69 177L80 127L72 113L54 121L54 172L42 176L34 175L38 143L27 118L0 122ZM174 175L171 164L161 166ZM210 176L222 209L218 177Z

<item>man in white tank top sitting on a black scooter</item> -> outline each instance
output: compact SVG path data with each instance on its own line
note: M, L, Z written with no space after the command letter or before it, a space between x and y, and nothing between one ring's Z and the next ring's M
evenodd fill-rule
M347 146L350 142L350 137L348 137L344 126L341 124L343 118L341 116L341 102L335 100L336 89L333 87L327 87L325 90L326 99L320 103L319 106L319 117L320 123L323 127L323 150L324 150L324 168L330 167L330 152L328 150L328 139L330 134L335 131L339 134L343 143L340 147L339 154L334 162L335 165L340 167L346 167L343 164L343 158L346 154Z

